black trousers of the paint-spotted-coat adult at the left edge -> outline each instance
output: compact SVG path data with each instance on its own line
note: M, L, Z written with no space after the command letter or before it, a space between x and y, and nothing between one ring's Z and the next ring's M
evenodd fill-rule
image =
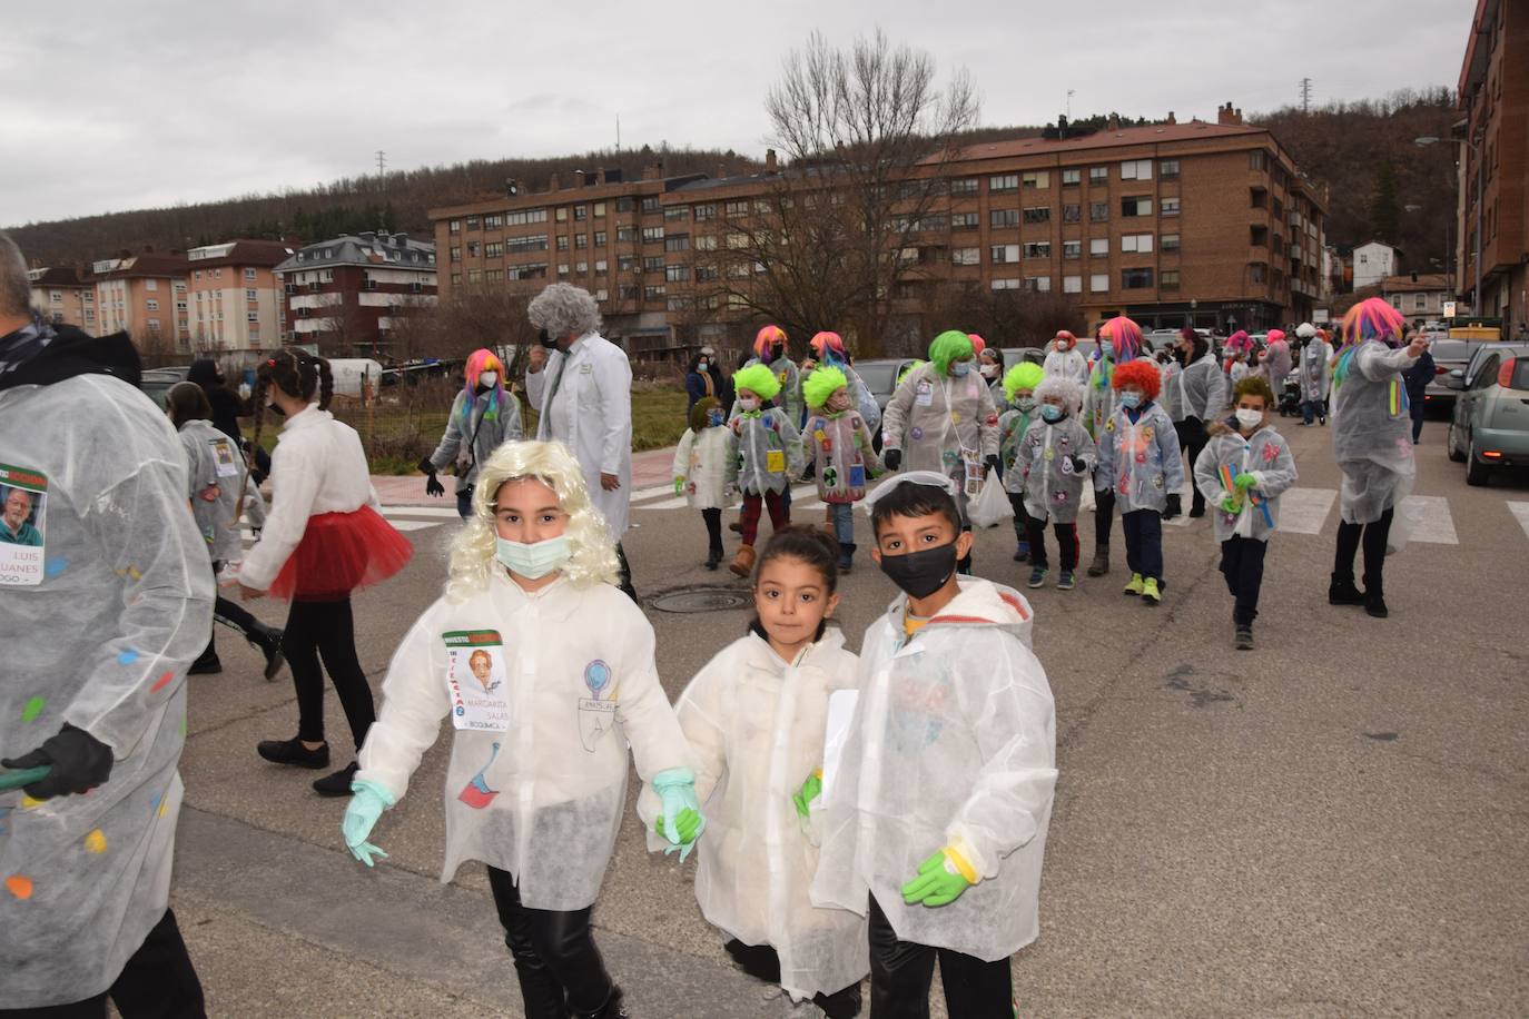
M165 911L144 944L127 959L122 973L104 995L69 1005L46 1008L0 1008L3 1019L106 1019L112 999L122 1019L200 1019L206 1016L202 981L187 943L180 938L176 915Z

